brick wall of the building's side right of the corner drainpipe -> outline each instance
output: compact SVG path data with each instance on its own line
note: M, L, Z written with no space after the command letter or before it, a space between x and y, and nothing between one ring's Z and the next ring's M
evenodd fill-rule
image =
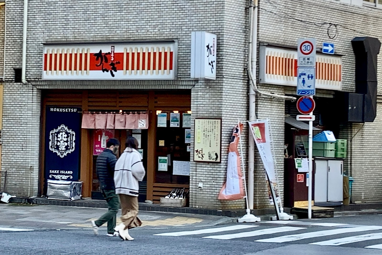
M382 32L380 18L382 10L372 7L357 7L337 0L291 0L291 1L259 1L259 41L296 48L298 38L317 38L317 47L323 42L335 43L336 54L342 55L342 84L343 90L354 92L354 54L351 40L357 36L372 36L379 38ZM308 11L307 11L308 10ZM296 20L297 19L297 20ZM306 21L301 22L298 20ZM312 23L337 24L338 38L330 39L327 35L329 25L316 26ZM332 26L333 28L333 26ZM332 30L329 31L332 33ZM378 95L382 94L382 54L378 57ZM271 92L283 94L278 86L267 86ZM287 89L285 89L285 92ZM348 158L345 161L345 171L354 178L353 201L372 202L382 200L381 177L382 167L380 159L382 152L379 146L382 134L379 132L382 125L382 101L379 99L377 118L374 123L343 124L340 139L348 139ZM283 107L282 103L273 104ZM272 107L272 106L270 106ZM258 111L261 106L258 105ZM265 108L265 106L264 106ZM275 111L277 111L275 109ZM258 113L259 116L270 116L275 111ZM274 140L281 146L283 144L283 112L280 111L274 118L280 126L275 131ZM272 116L273 117L273 116ZM273 121L274 123L275 121ZM368 149L367 149L368 148ZM372 149L371 149L372 148ZM278 153L282 154L280 150ZM280 157L282 162L282 158ZM283 165L278 164L280 172ZM259 183L258 185L260 185ZM259 191L260 192L260 191ZM265 192L265 190L264 190ZM261 198L263 196L260 196ZM258 202L261 204L261 201Z

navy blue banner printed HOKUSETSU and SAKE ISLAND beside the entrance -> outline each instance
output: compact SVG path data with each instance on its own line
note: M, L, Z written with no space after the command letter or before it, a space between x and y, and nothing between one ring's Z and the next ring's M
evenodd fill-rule
M45 180L78 181L81 108L47 106Z

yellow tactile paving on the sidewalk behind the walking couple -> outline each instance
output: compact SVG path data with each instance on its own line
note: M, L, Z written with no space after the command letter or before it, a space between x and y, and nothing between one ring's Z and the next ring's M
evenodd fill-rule
M89 219L90 221L95 221L96 219ZM144 226L180 226L185 224L194 224L202 222L202 219L198 218L191 218L191 217L181 217L181 216L175 216L173 218L163 219L163 220L155 220L155 221L142 221L142 227ZM121 218L117 218L117 225L121 223ZM90 224L70 224L68 226L73 227L91 227Z

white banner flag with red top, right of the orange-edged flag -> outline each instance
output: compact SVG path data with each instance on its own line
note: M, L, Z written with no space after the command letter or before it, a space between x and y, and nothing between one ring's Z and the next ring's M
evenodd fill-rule
M256 142L257 150L259 150L261 160L264 164L265 172L267 173L270 184L273 186L276 202L279 202L280 195L278 193L278 184L276 177L275 162L272 156L272 148L270 144L270 134L269 134L269 120L258 120L258 121L249 121L249 129L251 130L253 139ZM273 203L272 192L270 190L269 182L267 181L268 186L268 196L270 203Z

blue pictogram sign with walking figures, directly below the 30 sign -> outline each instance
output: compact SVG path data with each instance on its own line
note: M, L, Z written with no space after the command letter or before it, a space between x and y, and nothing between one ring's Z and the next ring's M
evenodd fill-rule
M297 68L297 95L316 95L316 67Z

